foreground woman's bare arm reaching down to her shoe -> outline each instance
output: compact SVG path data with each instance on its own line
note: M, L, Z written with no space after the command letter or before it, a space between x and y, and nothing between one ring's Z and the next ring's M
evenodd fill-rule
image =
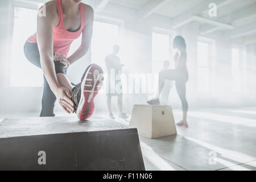
M38 16L37 39L40 62L44 76L60 105L68 113L73 113L71 93L67 88L60 86L53 63L53 26L55 26L56 19L58 21L59 18L56 16L56 5L51 3L46 5L46 16Z

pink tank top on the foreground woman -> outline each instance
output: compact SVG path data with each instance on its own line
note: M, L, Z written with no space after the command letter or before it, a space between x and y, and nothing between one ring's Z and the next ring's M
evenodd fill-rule
M79 38L82 30L84 29L84 7L82 6L82 3L79 4L79 10L81 14L81 26L79 30L71 32L66 30L63 24L63 10L61 7L61 0L56 0L56 6L59 15L59 24L56 27L53 27L53 52L59 53L67 57L69 48L73 40ZM27 42L37 43L36 33L28 38Z

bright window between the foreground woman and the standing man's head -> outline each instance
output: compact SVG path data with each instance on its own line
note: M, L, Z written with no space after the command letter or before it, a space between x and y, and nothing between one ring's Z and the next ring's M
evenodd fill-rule
M105 65L105 57L113 52L119 43L119 26L116 24L94 22L92 37L92 63ZM122 47L120 47L122 49Z

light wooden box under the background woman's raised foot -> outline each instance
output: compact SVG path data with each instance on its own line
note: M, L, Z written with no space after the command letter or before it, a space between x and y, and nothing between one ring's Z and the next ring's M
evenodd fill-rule
M147 138L177 134L171 106L134 105L130 126L136 127L139 135Z

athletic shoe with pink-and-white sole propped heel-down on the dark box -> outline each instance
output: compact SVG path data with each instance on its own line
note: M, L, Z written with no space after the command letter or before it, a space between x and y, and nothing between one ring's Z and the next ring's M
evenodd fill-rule
M94 97L101 89L104 80L103 71L97 64L89 65L80 84L72 89L72 100L75 104L75 111L80 120L86 120L92 116L94 111Z

